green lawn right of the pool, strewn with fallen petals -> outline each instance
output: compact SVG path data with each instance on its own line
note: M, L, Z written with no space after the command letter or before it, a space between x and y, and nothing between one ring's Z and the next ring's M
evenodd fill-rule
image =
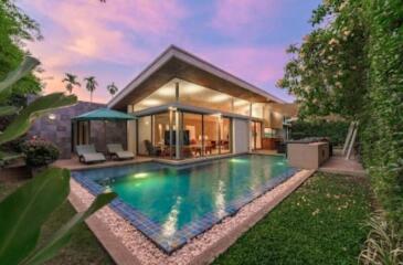
M370 212L364 179L316 173L214 264L357 264Z

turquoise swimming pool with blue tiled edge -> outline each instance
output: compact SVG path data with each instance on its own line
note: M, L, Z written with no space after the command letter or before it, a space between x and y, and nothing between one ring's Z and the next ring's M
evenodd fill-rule
M187 166L146 162L73 172L93 194L105 189L110 206L167 253L291 177L284 157L243 155Z

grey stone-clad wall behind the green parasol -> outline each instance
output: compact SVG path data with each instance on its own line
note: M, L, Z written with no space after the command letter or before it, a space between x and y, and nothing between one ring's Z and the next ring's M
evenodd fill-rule
M50 119L46 115L38 119L26 137L40 137L42 139L55 144L61 152L61 159L68 159L72 157L72 124L71 118L81 114L106 107L104 104L78 102L76 105L57 109L52 114L55 119ZM107 121L106 123L106 139L104 134L103 121L91 121L91 144L94 144L96 149L105 151L105 142L118 142L126 148L126 121Z

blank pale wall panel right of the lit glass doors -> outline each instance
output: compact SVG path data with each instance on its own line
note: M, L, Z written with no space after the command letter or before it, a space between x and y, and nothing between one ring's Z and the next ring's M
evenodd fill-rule
M233 127L233 152L242 153L250 151L250 121L245 119L232 120Z

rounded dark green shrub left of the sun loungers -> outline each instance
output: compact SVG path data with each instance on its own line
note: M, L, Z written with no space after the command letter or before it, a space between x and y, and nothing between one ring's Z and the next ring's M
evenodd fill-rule
M24 153L25 163L29 167L42 167L51 165L59 158L57 147L43 139L30 139L21 145L21 151Z

